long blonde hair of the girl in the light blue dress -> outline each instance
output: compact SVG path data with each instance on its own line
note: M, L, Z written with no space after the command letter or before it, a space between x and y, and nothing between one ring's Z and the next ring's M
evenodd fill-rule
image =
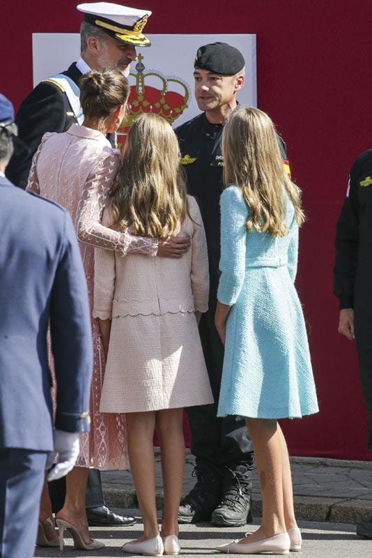
M287 234L283 188L298 225L304 222L300 188L286 174L268 114L251 107L233 112L224 126L222 153L225 186L238 186L251 210L246 223L249 232Z

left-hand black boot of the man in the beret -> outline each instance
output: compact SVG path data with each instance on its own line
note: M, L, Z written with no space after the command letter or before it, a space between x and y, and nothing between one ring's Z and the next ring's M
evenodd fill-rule
M221 478L211 469L195 467L196 485L178 508L178 523L210 521L210 515L221 498Z

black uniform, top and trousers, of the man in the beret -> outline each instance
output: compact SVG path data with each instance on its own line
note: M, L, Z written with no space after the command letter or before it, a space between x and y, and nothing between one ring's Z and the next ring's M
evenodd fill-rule
M197 465L208 467L217 474L223 474L224 465L235 469L239 463L248 462L249 467L253 466L253 448L245 420L240 416L217 418L224 361L224 347L215 329L220 255L219 197L224 188L223 129L224 124L211 124L202 113L175 130L187 175L187 190L199 202L206 229L210 272L209 310L202 315L199 329L215 402L187 409L191 449ZM285 144L279 136L278 141L286 159Z

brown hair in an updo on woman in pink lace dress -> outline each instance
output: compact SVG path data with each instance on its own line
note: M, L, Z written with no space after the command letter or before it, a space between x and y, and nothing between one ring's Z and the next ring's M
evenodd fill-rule
M79 81L80 104L86 119L104 121L127 103L130 87L119 70L91 70Z

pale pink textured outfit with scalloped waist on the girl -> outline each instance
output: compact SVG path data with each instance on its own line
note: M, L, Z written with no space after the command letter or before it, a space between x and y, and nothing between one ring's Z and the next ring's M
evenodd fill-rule
M189 197L180 259L95 250L93 316L111 319L100 410L157 411L213 402L195 310L208 309L206 234ZM109 210L104 221L110 223Z

